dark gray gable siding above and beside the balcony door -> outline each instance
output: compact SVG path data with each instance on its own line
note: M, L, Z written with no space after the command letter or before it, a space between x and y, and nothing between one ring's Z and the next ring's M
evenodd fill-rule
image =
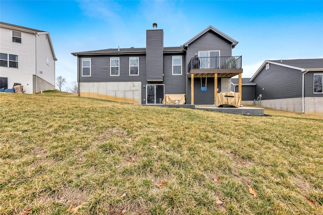
M232 56L232 48L229 41L213 32L206 32L189 44L187 48L187 65L191 58L195 56L195 53L207 50L220 50L220 56Z

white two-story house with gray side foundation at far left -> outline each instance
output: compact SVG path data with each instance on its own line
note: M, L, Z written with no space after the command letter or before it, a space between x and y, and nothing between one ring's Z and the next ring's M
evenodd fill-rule
M0 22L0 88L55 89L57 58L48 32Z

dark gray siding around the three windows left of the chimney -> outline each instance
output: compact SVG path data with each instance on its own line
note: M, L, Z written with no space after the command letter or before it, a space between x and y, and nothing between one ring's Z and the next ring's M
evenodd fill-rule
M119 57L119 76L110 76L110 58L113 57ZM139 76L129 75L129 57L139 57ZM82 58L91 59L91 76L82 77ZM80 82L141 81L146 78L146 57L144 55L91 56L82 58L78 58Z

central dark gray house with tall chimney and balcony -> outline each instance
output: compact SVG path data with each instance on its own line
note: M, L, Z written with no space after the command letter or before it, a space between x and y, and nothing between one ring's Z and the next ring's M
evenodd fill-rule
M231 91L231 77L242 81L242 57L232 56L237 44L209 26L181 46L164 47L164 31L154 23L145 48L72 53L79 95L134 104L161 104L177 95L186 104L214 104L218 92Z

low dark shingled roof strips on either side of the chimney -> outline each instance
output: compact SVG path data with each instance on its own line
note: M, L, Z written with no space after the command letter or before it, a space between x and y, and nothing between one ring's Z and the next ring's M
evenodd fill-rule
M164 47L164 53L172 53L172 52L183 52L183 46L176 47ZM92 50L92 51L81 51L81 52L73 52L72 55L125 55L130 53L146 53L146 48L107 48L101 50Z

